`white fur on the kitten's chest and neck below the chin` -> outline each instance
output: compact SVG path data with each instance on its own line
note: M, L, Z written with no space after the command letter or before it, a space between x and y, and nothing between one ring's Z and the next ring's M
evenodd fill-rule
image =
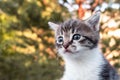
M64 57L65 72L62 80L99 80L103 57L96 48L86 51L80 58ZM69 55L69 54L68 54Z

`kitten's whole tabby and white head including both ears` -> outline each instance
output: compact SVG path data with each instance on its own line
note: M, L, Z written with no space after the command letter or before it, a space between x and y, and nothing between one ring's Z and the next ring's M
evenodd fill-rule
M61 24L49 22L55 31L56 48L60 54L77 54L97 47L100 12L87 20L71 19Z

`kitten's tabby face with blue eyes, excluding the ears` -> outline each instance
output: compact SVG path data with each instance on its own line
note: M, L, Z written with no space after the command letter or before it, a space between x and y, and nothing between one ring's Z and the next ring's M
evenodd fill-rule
M99 35L80 20L68 20L56 31L56 48L63 53L79 53L97 46Z

